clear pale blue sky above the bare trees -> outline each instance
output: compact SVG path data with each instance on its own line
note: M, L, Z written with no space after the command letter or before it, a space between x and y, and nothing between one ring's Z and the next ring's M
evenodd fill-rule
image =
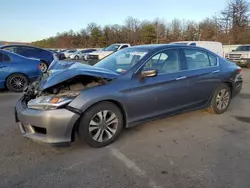
M158 17L199 21L224 9L228 0L1 0L0 40L31 42L58 32L79 31L90 22L123 24Z

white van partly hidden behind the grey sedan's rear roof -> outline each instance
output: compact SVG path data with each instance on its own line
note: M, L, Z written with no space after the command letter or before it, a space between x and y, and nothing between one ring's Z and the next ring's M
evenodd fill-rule
M221 57L224 57L223 45L220 42L215 41L178 41L171 42L170 44L181 44L181 45L191 45L206 48Z

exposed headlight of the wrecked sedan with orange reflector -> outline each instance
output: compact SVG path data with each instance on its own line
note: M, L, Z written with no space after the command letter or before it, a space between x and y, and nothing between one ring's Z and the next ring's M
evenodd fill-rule
M54 110L70 103L74 98L41 96L28 102L28 107L37 110Z

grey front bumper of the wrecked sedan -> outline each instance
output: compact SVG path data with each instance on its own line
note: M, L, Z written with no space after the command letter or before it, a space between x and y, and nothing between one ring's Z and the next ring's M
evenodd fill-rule
M65 108L29 109L23 98L15 106L16 122L19 123L23 136L52 145L68 144L72 141L72 131L79 117L79 114Z

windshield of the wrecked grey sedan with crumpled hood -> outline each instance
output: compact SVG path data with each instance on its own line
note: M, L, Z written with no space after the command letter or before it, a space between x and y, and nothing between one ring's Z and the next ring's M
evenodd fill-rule
M107 56L94 66L122 74L138 63L147 53L146 49L127 48Z

